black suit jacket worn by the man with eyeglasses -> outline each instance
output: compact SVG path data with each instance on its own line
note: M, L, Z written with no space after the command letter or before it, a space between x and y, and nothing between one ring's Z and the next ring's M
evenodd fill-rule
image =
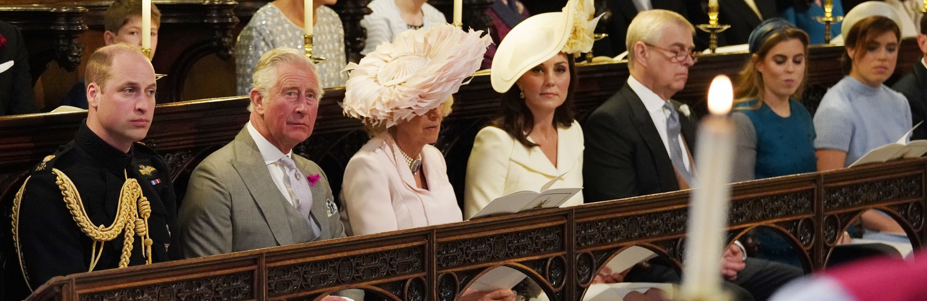
M681 104L672 102L679 111ZM693 150L694 120L679 112L679 123L682 138ZM583 132L587 203L679 190L667 147L641 97L628 84L592 111Z

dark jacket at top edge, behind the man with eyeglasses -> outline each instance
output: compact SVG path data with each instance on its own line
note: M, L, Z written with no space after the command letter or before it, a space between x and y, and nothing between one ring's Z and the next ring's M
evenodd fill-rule
M682 17L689 19L689 11L692 7L689 3L693 1L679 1L679 0L651 0L651 6L654 9L667 9L672 10ZM625 45L625 39L628 36L628 26L631 23L631 19L634 19L637 16L638 10L637 6L634 6L634 3L631 0L607 0L608 9L612 12L612 15L609 19L604 20L602 25L600 25L600 31L596 32L605 32L608 33L608 37L603 38L600 41L596 41L592 46L592 53L595 56L617 56L620 55L625 50L628 50L628 47ZM604 27L603 30L601 30Z

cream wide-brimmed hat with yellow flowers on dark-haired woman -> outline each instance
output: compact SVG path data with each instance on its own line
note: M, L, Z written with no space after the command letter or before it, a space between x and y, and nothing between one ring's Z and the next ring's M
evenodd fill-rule
M558 53L578 55L590 52L595 26L592 0L570 0L563 11L543 13L525 19L509 31L492 58L489 80L498 93L505 93L527 70Z

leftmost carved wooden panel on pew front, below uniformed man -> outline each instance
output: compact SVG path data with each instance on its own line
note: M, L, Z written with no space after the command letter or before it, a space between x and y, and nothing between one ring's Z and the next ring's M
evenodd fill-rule
M248 271L178 282L126 287L81 295L78 300L248 300L255 298L253 283L254 277Z

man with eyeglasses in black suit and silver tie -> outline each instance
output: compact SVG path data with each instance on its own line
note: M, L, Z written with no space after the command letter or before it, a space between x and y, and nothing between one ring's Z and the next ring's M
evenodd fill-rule
M695 29L678 13L641 12L628 29L628 83L596 108L586 124L583 194L586 202L659 194L697 186L692 165L696 119L670 99L682 90ZM737 300L766 300L782 284L800 276L794 267L746 257L743 245L724 254L722 273ZM616 270L615 272L623 272ZM630 269L625 282L679 282L665 258Z

